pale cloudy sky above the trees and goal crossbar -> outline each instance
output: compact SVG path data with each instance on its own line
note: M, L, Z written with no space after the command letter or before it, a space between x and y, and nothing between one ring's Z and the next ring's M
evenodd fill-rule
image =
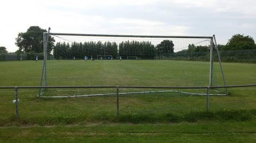
M30 26L52 33L212 36L256 40L256 0L1 0L0 46Z

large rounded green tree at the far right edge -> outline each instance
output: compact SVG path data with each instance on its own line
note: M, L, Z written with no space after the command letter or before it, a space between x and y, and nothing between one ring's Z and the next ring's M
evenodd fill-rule
M228 40L223 50L249 50L256 49L256 44L252 37L235 34Z

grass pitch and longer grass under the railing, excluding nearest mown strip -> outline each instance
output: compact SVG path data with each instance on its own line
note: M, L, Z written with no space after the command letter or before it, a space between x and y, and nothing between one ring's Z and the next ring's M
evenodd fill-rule
M221 72L215 63L216 81L221 84ZM42 61L0 62L0 86L39 85ZM255 64L223 63L228 84L253 84ZM209 62L129 60L129 61L48 61L48 85L139 85L139 86L198 86L209 84ZM238 69L238 70L234 70ZM241 72L245 77L239 78ZM186 75L187 74L187 75ZM186 76L185 76L186 75ZM234 80L236 79L236 80ZM218 84L218 83L217 83ZM229 96L210 96L210 111L245 112L237 118L252 120L256 109L256 88L232 88ZM153 90L154 89L150 89ZM6 92L5 92L6 91ZM37 89L19 89L21 123L69 124L81 121L168 122L181 119L190 112L199 112L193 122L217 118L198 118L206 110L206 97L180 93L150 93L120 95L120 119L116 118L116 97L41 99ZM149 89L119 89L120 93L149 91ZM181 91L181 90L180 90ZM183 90L199 92L193 90ZM206 93L206 90L200 90ZM79 95L116 93L115 89L51 89L48 95ZM0 122L10 125L15 119L14 90L0 90ZM47 95L47 94L45 94ZM227 110L227 111L226 111ZM241 110L241 111L240 111ZM231 112L232 111L232 112ZM247 114L248 113L248 114ZM194 114L193 114L194 115ZM217 116L216 116L217 117ZM222 117L222 115L221 115ZM144 119L143 119L144 118ZM178 119L177 119L178 118Z

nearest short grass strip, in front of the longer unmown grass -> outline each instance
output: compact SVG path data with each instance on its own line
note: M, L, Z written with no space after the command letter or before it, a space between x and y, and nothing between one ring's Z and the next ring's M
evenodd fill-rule
M256 121L0 127L3 143L253 143Z

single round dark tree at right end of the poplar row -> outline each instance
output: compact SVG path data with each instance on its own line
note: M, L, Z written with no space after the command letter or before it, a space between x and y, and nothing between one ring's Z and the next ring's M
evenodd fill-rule
M160 44L156 46L157 53L159 55L167 56L170 53L174 53L174 44L172 40L163 40Z

